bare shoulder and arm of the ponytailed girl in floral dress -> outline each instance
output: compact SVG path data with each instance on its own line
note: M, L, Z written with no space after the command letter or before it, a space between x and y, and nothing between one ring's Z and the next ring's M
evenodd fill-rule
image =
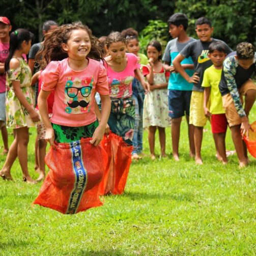
M11 59L10 61L10 69L17 69L20 66L19 60L17 59ZM30 117L33 122L40 121L39 115L37 111L34 109L33 106L30 105L30 103L26 100L21 88L20 88L20 81L12 81L13 85L13 91L18 98L19 102L22 106L25 107L27 111L29 111Z

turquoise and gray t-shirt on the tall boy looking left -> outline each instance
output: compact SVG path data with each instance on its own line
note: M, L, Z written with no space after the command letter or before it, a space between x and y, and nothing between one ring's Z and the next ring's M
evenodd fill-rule
M180 51L189 43L195 41L195 39L190 38L185 43L180 43L178 38L170 40L167 43L166 49L163 54L162 60L165 62L169 62L170 65L173 65L173 60L180 53ZM189 56L185 58L181 64L194 64L192 58ZM186 73L189 76L192 76L194 70L186 69ZM187 82L179 73L170 73L168 89L169 90L179 90L179 91L191 91L193 87L192 83Z

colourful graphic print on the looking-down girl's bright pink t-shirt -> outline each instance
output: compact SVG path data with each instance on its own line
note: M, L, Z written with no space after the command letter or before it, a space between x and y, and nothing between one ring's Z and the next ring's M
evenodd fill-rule
M126 98L128 97L131 92L130 83L133 80L133 76L127 76L123 80L119 80L114 78L110 85L110 95L113 98Z

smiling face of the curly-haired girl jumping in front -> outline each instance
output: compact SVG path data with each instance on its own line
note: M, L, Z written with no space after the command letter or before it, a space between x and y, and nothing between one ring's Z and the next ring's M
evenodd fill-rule
M69 58L74 60L86 59L91 50L91 41L86 30L73 30L67 43L62 48L68 53Z

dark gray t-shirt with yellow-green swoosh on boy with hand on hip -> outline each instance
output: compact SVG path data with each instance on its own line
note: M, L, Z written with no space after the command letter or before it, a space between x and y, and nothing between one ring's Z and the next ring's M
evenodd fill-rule
M202 87L204 72L207 68L212 66L212 61L208 57L208 53L209 53L208 49L211 43L217 42L217 41L221 41L221 40L212 39L212 41L210 42L202 42L200 40L196 40L192 43L189 43L180 52L180 54L185 58L188 58L189 56L191 56L194 62L194 67L195 67L194 72L198 73L198 76L200 77L200 80L198 81L198 83L194 83L192 91L198 91L198 92L204 91L204 87ZM229 46L227 46L226 43L224 44L226 46L226 53L229 54L230 52L232 52L232 49Z

